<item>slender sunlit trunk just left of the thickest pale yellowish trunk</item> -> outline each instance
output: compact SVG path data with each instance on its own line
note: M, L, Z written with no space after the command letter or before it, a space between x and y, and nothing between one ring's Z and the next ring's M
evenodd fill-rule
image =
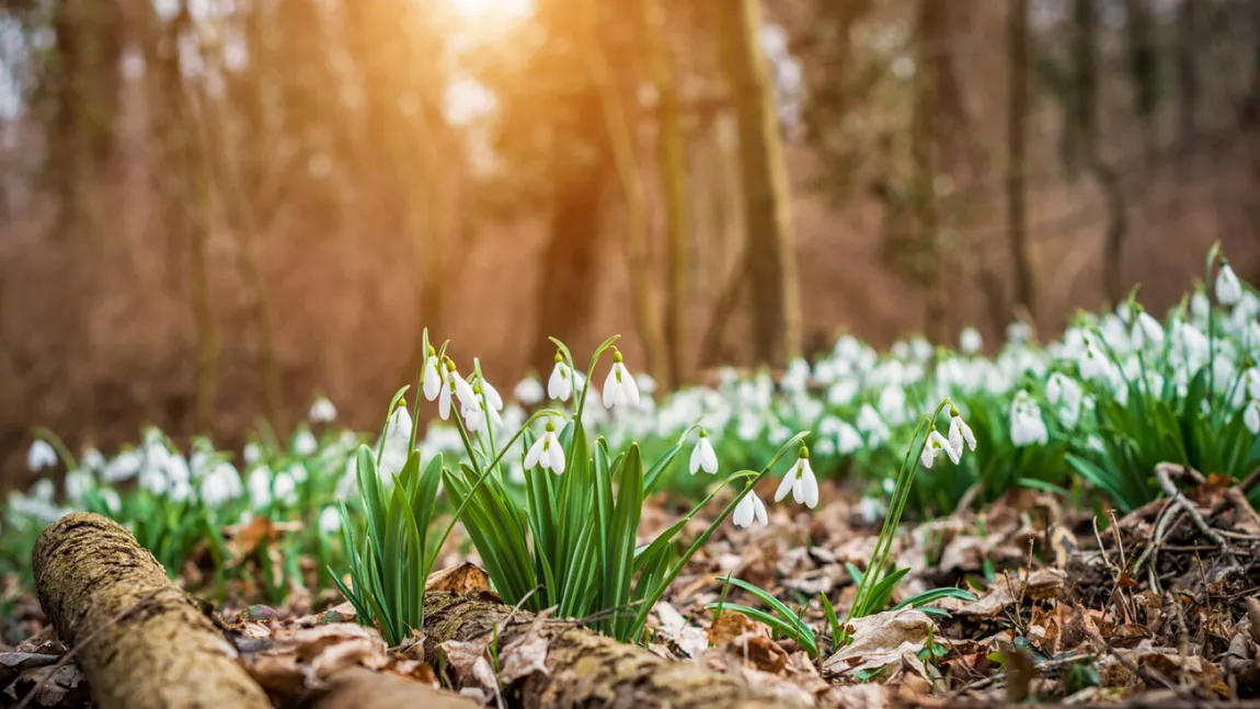
M644 31L648 57L659 101L656 140L660 147L660 175L665 191L665 238L669 243L668 278L665 286L665 344L669 349L669 373L678 385L689 374L687 361L687 251L688 233L687 159L683 152L683 126L678 111L674 69L665 43L665 14L662 0L643 0Z

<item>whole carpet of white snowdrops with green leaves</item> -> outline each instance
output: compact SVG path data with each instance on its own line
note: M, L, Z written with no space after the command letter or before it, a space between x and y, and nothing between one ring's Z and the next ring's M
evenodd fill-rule
M278 557L318 559L316 583L339 586L402 637L422 617L416 579L459 520L507 601L605 612L601 630L636 637L717 524L769 523L756 489L766 475L782 475L774 501L806 508L819 504L815 471L843 475L862 487L863 515L895 533L903 511L948 514L1014 485L1130 510L1162 494L1150 474L1162 461L1250 474L1260 466L1260 298L1215 249L1203 283L1163 319L1134 293L1080 314L1046 345L1021 322L993 356L975 330L956 349L915 337L887 353L844 335L777 377L723 369L713 385L659 400L612 340L585 368L557 343L553 370L510 397L478 361L461 372L426 345L413 404L399 392L379 436L339 429L319 398L307 426L287 440L260 431L239 458L207 440L184 455L156 429L113 457L76 458L42 431L28 462L63 467L63 482L10 494L0 570L21 570L33 535L71 510L129 524L173 573L197 554L228 559L227 525L300 521L276 542ZM432 421L421 436L422 419ZM936 465L942 453L949 465ZM916 479L919 466L931 474ZM639 515L656 492L694 505L640 543ZM711 524L684 545L679 533L699 515ZM882 563L871 568L887 576ZM296 562L277 570L280 597L310 581Z

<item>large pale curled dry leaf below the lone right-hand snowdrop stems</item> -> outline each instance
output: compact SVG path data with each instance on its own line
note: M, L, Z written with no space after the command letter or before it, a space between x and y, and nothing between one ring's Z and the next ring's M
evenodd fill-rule
M824 675L852 676L863 670L898 666L911 674L929 676L919 652L935 626L922 611L885 611L849 621L847 627L853 640L823 662Z

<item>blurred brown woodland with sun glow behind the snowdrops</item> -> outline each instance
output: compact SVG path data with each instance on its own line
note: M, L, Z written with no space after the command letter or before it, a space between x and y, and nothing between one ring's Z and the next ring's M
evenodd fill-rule
M0 481L374 428L425 325L668 387L1162 315L1216 239L1260 278L1256 0L0 0Z

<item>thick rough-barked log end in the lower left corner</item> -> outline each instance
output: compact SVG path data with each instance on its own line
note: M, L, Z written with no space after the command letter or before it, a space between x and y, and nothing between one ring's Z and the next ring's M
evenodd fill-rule
M94 514L53 523L32 553L39 603L101 709L270 709L237 651L130 531Z

